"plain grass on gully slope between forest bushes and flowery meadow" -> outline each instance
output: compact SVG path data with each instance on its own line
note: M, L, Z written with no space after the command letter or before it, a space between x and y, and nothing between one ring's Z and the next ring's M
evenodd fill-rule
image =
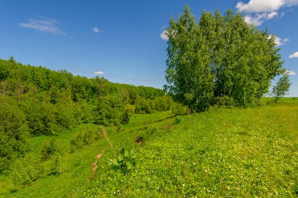
M170 111L158 114L134 115L131 119L131 124L123 127L125 130L124 132L116 133L112 128L106 128L106 131L115 145L118 145L121 142L131 142L131 144L134 144L135 138L140 132L143 132L144 128L161 122L172 122L172 119L170 119L171 121L166 120L166 118L170 118L171 116ZM98 128L97 125L93 124L89 124L89 126L94 130ZM59 134L57 138L63 146L69 147L70 139L77 135L80 128L84 130L86 127L86 124L81 125L71 132ZM43 141L46 139L50 139L50 137L39 136L30 140L32 150L36 155L40 155L40 148L42 147ZM107 145L106 140L102 139L80 151L66 154L64 157L67 167L65 173L57 176L43 175L40 179L34 182L34 185L22 188L13 194L10 193L10 177L1 177L0 197L61 198L66 195L76 197L76 194L84 189L84 185L88 184L89 178L92 176L91 164L95 162L95 156L100 153L104 147L107 147ZM68 148L66 148L66 150L68 150ZM106 152L109 154L111 153L110 147L107 147ZM46 169L49 168L48 162L45 162L44 166Z

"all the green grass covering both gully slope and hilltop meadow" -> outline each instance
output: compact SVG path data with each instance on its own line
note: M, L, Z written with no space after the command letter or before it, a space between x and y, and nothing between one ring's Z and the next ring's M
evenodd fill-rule
M179 120L170 111L133 115L129 125L105 128L118 160L123 148L133 167L108 165L116 157L104 135L72 151L70 141L84 124L56 137L63 173L48 174L52 160L42 162L41 178L14 191L11 176L1 176L0 197L297 198L297 112L298 100L286 98L256 108L213 107ZM30 139L32 156L50 138Z

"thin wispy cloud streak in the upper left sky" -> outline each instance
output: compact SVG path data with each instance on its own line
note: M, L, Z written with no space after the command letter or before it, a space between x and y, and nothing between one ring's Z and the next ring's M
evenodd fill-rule
M57 27L60 24L58 20L50 19L42 15L37 15L37 18L30 18L27 23L19 23L21 27L32 28L42 32L52 32L54 34L66 35L64 31Z

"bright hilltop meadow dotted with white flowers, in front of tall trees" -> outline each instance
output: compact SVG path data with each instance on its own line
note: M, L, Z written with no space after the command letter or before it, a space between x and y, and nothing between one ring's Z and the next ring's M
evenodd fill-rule
M213 109L163 127L135 171L99 169L84 197L297 197L298 103Z

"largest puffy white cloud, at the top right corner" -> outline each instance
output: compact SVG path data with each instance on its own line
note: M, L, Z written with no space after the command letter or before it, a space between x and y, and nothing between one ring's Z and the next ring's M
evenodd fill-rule
M245 16L245 21L248 24L261 25L263 22L279 15L280 18L283 17L285 12L282 11L279 14L278 10L282 7L294 5L298 5L298 0L250 0L248 3L238 2L236 8L238 11L248 13Z

